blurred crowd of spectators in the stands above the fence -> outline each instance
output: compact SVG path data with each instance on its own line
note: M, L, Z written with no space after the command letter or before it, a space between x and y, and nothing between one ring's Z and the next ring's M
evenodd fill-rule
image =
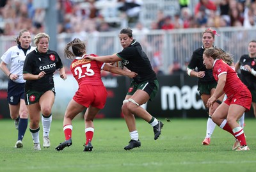
M56 0L58 33L113 31L120 27L137 29L179 29L256 25L255 0L179 0L177 13L158 9L150 24L140 20L143 0ZM178 1L178 0L177 0ZM17 35L26 28L36 34L45 29L45 8L35 8L35 0L1 0L0 34ZM109 20L111 16L111 20Z

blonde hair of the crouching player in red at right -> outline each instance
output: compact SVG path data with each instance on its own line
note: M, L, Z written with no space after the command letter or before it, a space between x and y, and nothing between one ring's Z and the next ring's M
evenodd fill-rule
M204 51L204 54L205 56L207 56L207 58L211 57L213 59L223 59L223 61L225 61L225 63L227 63L228 65L232 65L232 63L234 63L232 55L223 51L220 48L206 49Z

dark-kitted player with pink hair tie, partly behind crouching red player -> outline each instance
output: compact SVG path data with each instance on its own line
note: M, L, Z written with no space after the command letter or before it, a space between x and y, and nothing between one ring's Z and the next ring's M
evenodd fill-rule
M211 143L211 136L216 127L216 124L212 121L212 114L216 110L218 106L220 106L223 97L218 98L218 100L213 104L211 107L207 107L207 100L212 96L214 90L217 86L217 82L215 81L212 70L205 68L203 63L203 53L205 49L214 48L213 45L215 40L215 35L218 35L216 31L212 30L211 28L205 29L202 33L202 47L196 49L191 57L191 61L187 68L187 73L191 77L198 78L198 91L202 101L204 102L204 106L206 108L207 114L209 118L207 120L207 128L206 128L206 136L204 141L202 142L203 145L210 145ZM197 70L195 70L197 69Z

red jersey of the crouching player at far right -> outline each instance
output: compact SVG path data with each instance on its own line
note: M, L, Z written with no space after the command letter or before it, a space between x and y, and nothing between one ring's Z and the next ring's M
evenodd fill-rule
M218 78L221 74L227 74L227 79L223 91L227 94L227 97L232 97L237 91L247 90L247 87L237 76L237 73L222 59L216 59L212 68L212 74L214 79L218 82Z

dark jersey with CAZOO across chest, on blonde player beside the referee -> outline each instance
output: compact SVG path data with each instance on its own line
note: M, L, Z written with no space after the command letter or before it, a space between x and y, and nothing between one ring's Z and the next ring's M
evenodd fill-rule
M40 53L37 49L30 52L23 66L23 74L38 75L44 71L46 74L41 79L27 80L26 90L47 91L54 88L53 73L56 69L62 68L62 62L57 52L48 50L46 53Z

